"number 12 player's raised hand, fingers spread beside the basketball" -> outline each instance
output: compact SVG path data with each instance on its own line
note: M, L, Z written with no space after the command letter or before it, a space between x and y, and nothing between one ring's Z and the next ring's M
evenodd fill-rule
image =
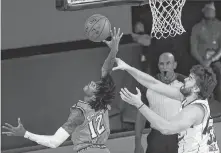
M119 42L123 36L123 33L120 32L120 28L118 28L118 31L116 31L115 27L114 27L114 32L112 32L111 30L110 33L111 33L111 41L103 40L103 42L107 44L107 46L110 49L115 49L116 51L118 51Z

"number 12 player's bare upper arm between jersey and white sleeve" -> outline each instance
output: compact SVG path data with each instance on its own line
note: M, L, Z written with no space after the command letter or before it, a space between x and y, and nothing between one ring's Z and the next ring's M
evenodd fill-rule
M69 134L72 134L78 126L83 124L84 120L83 111L79 108L72 108L68 120L63 124L62 128Z

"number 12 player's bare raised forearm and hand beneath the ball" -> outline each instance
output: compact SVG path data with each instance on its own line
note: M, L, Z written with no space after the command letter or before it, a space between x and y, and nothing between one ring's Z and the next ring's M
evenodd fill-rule
M120 32L120 28L118 31L116 31L116 28L114 27L114 31L111 33L111 41L104 40L103 42L107 44L107 46L111 49L108 57L104 61L104 64L102 66L101 70L101 76L105 77L108 73L112 71L112 68L115 63L115 58L118 53L118 47L121 37L123 36L123 33Z

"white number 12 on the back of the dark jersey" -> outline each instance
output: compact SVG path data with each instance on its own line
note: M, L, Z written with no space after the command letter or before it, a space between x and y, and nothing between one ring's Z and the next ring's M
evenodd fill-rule
M92 120L89 122L89 129L91 132L92 139L96 138L98 135L101 135L105 131L104 125L101 124L102 120L103 120L103 115L101 114L96 117L95 121ZM95 122L95 124L93 124L93 121ZM94 127L94 125L96 127Z

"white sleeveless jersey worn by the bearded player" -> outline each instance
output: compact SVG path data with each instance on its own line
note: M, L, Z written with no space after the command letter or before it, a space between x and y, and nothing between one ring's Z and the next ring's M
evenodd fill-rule
M192 126L185 131L182 131L178 135L178 153L219 153L217 142L210 142L210 144L216 143L216 152L211 152L211 145L209 144L210 128L213 129L213 123L209 122L210 108L207 100L196 100L191 104L200 104L205 110L205 115L201 124ZM191 105L189 104L189 105ZM185 101L183 102L185 105ZM185 107L185 106L184 106Z

